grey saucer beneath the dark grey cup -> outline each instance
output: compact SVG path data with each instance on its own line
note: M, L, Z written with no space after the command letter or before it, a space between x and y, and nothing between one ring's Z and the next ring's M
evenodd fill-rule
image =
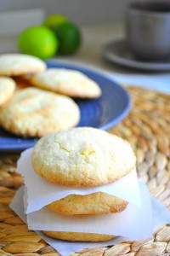
M170 70L170 59L159 62L141 61L136 58L129 49L127 49L127 44L123 39L106 44L103 49L103 55L107 60L125 67L133 67L150 71Z

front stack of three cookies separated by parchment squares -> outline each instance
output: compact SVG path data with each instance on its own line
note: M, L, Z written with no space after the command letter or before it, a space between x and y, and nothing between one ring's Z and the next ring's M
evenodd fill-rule
M65 188L99 188L130 173L135 155L127 141L95 128L81 127L42 137L32 151L32 168L49 183ZM29 188L27 188L29 189ZM123 189L123 188L122 188ZM97 192L67 195L48 204L56 214L82 216L114 214L127 207L127 201ZM69 227L68 227L69 229ZM96 233L43 231L47 236L70 241L107 241L114 236Z

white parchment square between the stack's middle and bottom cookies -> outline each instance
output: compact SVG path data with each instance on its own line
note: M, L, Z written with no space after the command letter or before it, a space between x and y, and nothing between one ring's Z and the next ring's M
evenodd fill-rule
M126 210L114 214L63 216L48 207L27 214L31 230L100 233L144 239L152 235L150 195L143 183L139 183L142 208L129 203Z

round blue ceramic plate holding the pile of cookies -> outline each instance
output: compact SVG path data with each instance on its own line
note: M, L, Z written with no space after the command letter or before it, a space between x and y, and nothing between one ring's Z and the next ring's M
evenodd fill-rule
M104 75L86 68L48 61L48 67L65 67L76 69L96 81L102 96L96 100L76 100L81 110L81 120L78 126L92 126L107 130L116 125L127 115L130 109L130 99L127 91L119 84L107 79ZM37 142L37 138L16 137L0 129L0 151L15 152L31 148Z

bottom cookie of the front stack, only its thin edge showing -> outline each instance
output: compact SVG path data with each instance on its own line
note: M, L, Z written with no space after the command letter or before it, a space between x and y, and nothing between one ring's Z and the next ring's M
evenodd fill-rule
M68 240L68 241L108 241L116 236L96 234L96 233L81 233L81 232L59 232L59 231L42 231L46 236Z

